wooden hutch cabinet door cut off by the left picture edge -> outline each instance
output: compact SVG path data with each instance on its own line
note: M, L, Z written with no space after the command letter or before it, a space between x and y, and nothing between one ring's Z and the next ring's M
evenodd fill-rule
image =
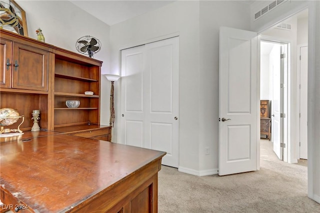
M0 87L10 88L11 87L11 52L12 42L4 39L0 39Z

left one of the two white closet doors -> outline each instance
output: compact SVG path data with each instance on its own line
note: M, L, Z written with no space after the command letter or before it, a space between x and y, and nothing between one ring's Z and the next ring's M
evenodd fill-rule
M145 49L143 46L121 51L121 128L122 144L143 147L143 69Z

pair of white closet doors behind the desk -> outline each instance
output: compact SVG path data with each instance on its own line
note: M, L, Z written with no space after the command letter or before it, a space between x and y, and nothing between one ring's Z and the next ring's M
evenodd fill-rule
M120 142L164 151L178 167L179 38L121 51Z

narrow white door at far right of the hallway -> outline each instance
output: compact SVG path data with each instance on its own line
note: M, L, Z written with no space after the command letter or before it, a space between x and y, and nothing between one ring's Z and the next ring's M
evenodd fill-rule
M307 159L307 72L308 72L308 47L300 47L300 159Z

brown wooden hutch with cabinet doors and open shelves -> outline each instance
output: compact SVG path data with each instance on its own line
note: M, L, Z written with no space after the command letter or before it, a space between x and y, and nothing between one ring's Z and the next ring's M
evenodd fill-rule
M87 132L86 137L108 141L110 127L99 125L102 61L6 30L0 32L0 108L13 108L24 115L20 129L31 130L32 110L40 110L41 130ZM93 91L93 95L85 95L85 91ZM79 100L80 106L67 108L66 100Z

